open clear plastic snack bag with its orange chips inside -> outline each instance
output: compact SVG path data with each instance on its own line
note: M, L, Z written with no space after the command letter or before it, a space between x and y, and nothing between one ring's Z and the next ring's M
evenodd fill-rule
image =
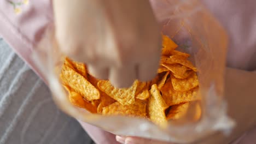
M192 142L234 122L223 98L227 37L196 0L151 1L162 23L158 75L115 88L63 55L49 27L33 59L68 115L117 135Z

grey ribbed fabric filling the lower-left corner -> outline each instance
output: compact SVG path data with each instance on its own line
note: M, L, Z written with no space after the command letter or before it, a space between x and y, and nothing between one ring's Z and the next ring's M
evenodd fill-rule
M0 38L0 143L93 143L57 109L48 87Z

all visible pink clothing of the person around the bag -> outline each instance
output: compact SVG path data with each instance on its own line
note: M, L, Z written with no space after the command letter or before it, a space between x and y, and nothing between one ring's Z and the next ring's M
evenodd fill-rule
M230 36L228 65L239 69L256 69L256 9L254 8L256 1L202 1L228 31ZM30 1L29 4L23 4L18 8L22 11L20 14L15 14L13 6L8 1L0 0L0 35L34 69L34 63L29 56L42 37L45 27L53 21L51 1ZM38 73L37 69L34 71ZM89 124L82 125L96 143L115 143L113 134ZM236 141L236 143L253 142L256 142L256 129L248 131Z

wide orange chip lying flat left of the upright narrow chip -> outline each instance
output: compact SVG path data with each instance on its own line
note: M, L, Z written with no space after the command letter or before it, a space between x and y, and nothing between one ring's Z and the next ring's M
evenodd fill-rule
M136 100L131 105L122 105L117 101L109 106L103 107L102 114L146 117L146 106L146 100Z

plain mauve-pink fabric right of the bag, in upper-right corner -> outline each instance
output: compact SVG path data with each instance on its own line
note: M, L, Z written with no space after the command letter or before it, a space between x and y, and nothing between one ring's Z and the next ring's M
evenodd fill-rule
M202 0L229 34L227 62L230 67L256 68L256 1Z

